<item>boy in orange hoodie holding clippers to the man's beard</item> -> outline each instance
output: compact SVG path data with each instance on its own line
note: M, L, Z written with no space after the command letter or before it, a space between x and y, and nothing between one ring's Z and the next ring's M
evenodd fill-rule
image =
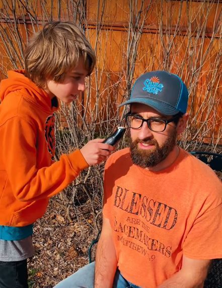
M94 51L80 28L52 22L29 42L25 71L9 71L0 84L0 287L28 287L33 223L49 197L113 150L95 139L53 161L58 99L75 100L94 66Z

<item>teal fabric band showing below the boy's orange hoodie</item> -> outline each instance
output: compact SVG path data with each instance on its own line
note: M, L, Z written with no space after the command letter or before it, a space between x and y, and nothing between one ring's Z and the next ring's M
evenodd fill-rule
M1 240L22 240L33 234L33 224L23 227L12 227L0 225Z

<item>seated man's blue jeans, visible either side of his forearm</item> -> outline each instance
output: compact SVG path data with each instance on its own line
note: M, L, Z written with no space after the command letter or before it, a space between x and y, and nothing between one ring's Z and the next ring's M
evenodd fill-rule
M54 288L94 288L94 274L95 274L95 262L90 263L83 268L79 269L76 273L67 277L66 279L55 285ZM130 282L128 282L120 274L119 270L116 271L113 288L139 288Z

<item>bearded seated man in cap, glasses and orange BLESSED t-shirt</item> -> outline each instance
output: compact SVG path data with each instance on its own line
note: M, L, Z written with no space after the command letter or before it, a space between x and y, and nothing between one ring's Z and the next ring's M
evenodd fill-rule
M222 186L176 145L187 101L177 75L154 71L137 79L121 104L130 104L130 147L105 165L95 283L93 263L57 287L203 287L210 260L222 257Z

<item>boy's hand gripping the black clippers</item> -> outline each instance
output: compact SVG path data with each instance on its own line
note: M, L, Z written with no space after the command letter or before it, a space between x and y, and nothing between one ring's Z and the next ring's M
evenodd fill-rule
M98 164L110 155L115 148L109 144L102 143L104 139L90 140L80 149L87 163L92 166Z

